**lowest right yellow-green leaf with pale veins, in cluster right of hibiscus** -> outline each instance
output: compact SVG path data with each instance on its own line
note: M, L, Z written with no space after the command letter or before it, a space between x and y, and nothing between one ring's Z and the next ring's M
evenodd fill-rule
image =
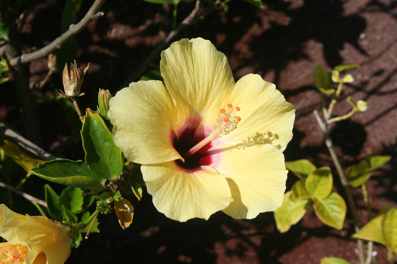
M346 216L345 200L336 192L332 192L325 199L314 200L314 212L327 226L342 229Z

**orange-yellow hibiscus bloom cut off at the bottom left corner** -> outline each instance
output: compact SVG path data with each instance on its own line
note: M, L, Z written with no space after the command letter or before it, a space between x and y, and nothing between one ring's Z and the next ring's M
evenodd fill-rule
M0 263L59 264L70 255L72 229L45 216L17 214L0 205Z

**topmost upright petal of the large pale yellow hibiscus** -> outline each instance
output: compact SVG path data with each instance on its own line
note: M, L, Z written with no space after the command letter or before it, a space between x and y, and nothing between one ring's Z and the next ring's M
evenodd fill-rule
M222 95L235 84L226 56L202 38L173 42L161 54L160 69L178 109L177 134L189 125L197 128L207 111L227 104Z

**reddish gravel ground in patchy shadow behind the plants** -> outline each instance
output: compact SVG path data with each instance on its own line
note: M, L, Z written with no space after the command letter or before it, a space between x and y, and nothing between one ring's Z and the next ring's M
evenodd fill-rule
M23 28L25 52L42 47L58 34L62 1L38 6ZM85 1L79 17L92 1ZM367 184L373 213L383 205L396 207L397 178L397 2L395 0L269 0L265 9L234 0L229 11L220 11L197 21L179 34L180 38L202 37L224 52L237 79L257 73L274 82L296 108L294 137L285 150L285 159L310 159L315 165L332 166L324 137L312 114L320 107L313 87L312 70L317 64L327 70L342 63L362 67L349 71L355 81L343 91L369 104L367 112L331 126L343 166L357 163L368 155L391 155L392 160L376 172ZM194 3L179 5L178 21L193 9ZM90 63L81 107L96 107L98 88L119 90L170 31L172 7L142 1L108 1L101 8L104 17L92 22L77 35L79 63ZM158 64L160 57L154 63ZM48 71L46 59L30 63L31 81ZM60 87L60 75L54 75ZM4 88L3 88L4 87ZM21 118L12 84L0 86L0 120L19 126ZM36 94L51 94L54 86L44 86ZM3 88L3 89L2 89ZM40 103L40 101L38 101ZM63 114L54 105L38 107L42 147L48 151L62 145L73 131L66 127ZM349 111L341 101L335 112ZM78 134L77 134L78 138ZM63 149L69 159L83 159L81 144ZM336 172L334 173L336 175ZM287 188L296 178L289 175ZM335 182L340 193L340 183ZM366 210L360 190L355 191L362 224ZM324 256L338 256L358 263L354 233L350 224L337 231L324 226L309 209L298 224L280 234L273 213L262 213L253 220L235 220L218 212L209 220L193 219L179 223L166 218L153 207L144 192L135 207L132 225L118 226L115 214L100 216L101 232L93 233L67 263L319 263ZM351 215L347 215L351 219ZM378 263L385 264L386 250L375 245Z

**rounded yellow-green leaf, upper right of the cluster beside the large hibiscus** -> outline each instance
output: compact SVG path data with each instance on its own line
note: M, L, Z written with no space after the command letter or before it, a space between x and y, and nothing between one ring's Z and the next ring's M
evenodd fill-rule
M324 199L332 190L332 173L330 167L319 168L310 173L304 181L304 188L308 194L316 199Z

